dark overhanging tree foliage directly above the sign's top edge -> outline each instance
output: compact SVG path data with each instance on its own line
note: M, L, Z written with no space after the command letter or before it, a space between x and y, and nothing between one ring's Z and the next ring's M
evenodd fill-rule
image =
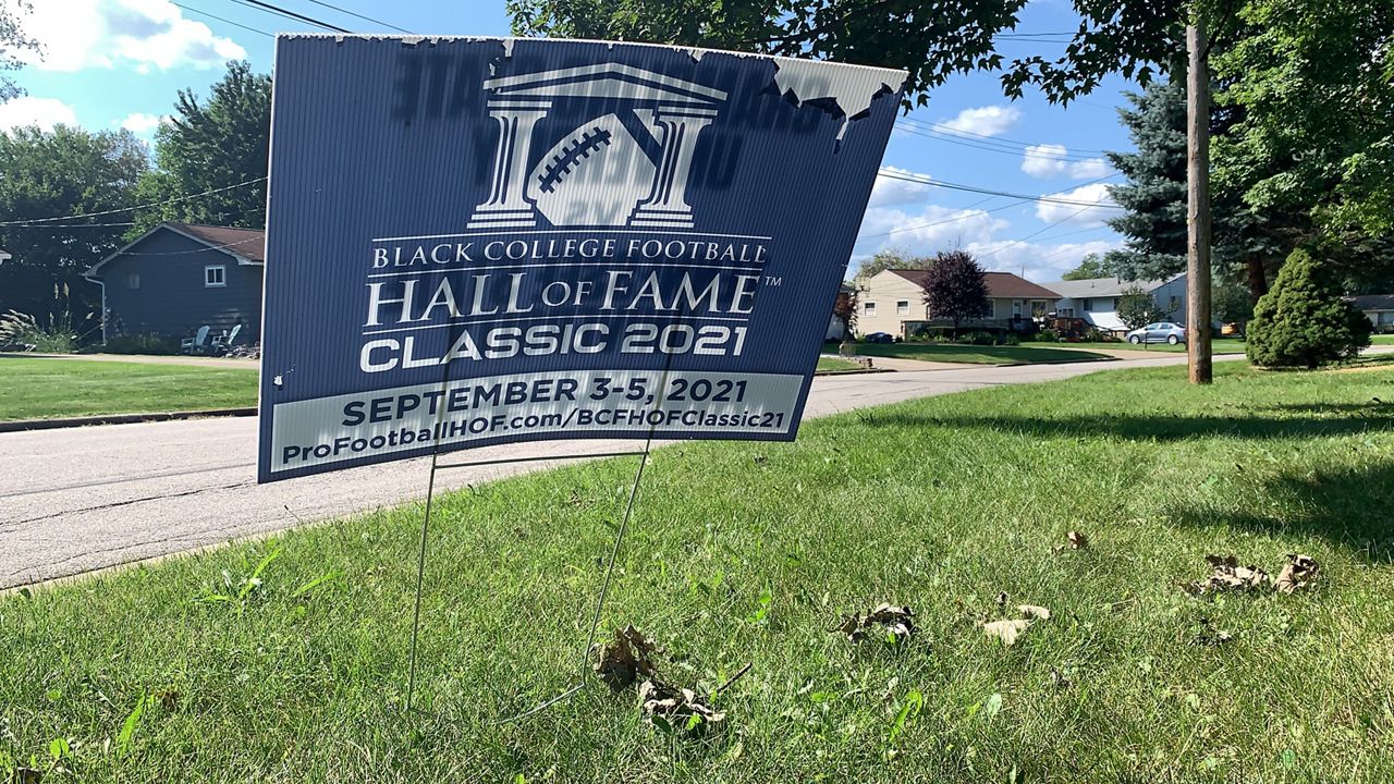
M1026 0L509 0L520 36L644 40L905 68L906 106L997 68L993 36Z

